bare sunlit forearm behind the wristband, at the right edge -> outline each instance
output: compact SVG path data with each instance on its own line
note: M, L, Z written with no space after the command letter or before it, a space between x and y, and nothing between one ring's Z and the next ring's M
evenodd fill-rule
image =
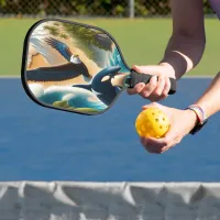
M205 110L207 118L220 111L220 72L195 105Z

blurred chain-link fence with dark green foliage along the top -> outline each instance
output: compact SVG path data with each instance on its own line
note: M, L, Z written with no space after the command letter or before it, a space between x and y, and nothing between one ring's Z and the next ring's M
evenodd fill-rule
M204 0L206 14L212 11ZM0 0L1 16L167 16L169 0Z

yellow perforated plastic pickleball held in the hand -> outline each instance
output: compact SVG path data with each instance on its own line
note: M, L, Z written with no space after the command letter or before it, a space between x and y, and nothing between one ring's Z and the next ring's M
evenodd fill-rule
M163 138L169 125L168 117L158 108L143 110L135 121L136 132L143 138Z

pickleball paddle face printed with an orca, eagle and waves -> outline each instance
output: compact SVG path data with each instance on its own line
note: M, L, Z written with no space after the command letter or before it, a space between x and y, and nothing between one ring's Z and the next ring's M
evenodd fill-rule
M41 106L102 113L122 91L129 74L116 41L98 28L42 20L25 37L22 82Z

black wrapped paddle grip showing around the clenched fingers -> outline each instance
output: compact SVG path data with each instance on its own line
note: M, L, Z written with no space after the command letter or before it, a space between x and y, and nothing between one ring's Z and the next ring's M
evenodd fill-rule
M129 85L129 88L133 88L136 84L140 82L148 84L152 77L153 77L152 75L139 74L132 69L129 77L129 81L127 84ZM176 79L169 78L169 80L170 80L170 89L168 95L174 95L176 92Z

